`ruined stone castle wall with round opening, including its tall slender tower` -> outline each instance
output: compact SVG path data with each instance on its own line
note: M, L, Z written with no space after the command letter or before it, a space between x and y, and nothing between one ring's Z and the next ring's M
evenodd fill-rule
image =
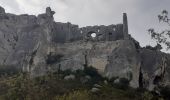
M92 33L96 37L91 36ZM65 43L73 41L115 41L128 38L127 16L124 14L123 24L109 26L87 26L79 28L71 23L54 23L52 42Z

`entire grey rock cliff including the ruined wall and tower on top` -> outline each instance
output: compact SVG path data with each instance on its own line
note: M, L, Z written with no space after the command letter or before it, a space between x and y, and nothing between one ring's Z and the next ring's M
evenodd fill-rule
M126 78L133 87L170 85L170 56L141 48L128 34L126 14L123 24L82 28L55 22L54 14L50 7L38 16L9 14L0 7L0 64L33 76L88 65L108 78Z

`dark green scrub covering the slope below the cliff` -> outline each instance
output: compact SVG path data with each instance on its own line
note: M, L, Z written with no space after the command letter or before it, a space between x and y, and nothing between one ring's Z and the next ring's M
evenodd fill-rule
M70 74L74 74L76 79L63 79ZM89 75L91 80L83 83L81 79L86 75ZM91 67L84 71L48 73L36 78L31 78L28 73L19 73L1 77L0 100L164 100L163 96L128 87L125 79L122 79L120 84L113 84L113 81L109 80L106 84L103 80ZM99 91L91 91L94 84L101 86ZM166 93L164 98L167 95Z

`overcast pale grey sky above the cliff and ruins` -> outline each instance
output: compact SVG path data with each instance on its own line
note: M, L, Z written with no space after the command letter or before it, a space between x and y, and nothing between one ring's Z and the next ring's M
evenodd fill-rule
M55 21L80 27L122 23L122 13L126 12L129 33L145 46L155 44L147 29L158 29L157 15L164 9L169 11L170 0L0 0L0 5L8 13L34 15L50 6L56 12Z

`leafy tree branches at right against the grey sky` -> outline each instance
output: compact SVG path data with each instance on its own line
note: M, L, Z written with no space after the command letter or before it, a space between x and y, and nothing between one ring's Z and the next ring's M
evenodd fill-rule
M163 10L158 15L159 22L166 23L170 26L170 19L168 17L168 11ZM161 32L156 32L153 28L148 29L152 39L155 39L158 44L165 44L166 49L170 49L170 29L165 29Z

